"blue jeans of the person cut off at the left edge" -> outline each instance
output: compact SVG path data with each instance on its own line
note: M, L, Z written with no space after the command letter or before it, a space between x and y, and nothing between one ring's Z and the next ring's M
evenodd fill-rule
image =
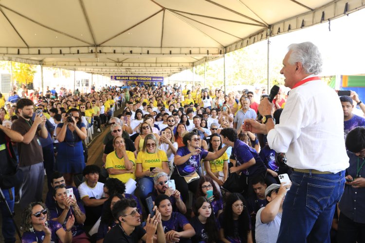
M12 197L10 198L9 190L12 191ZM14 187L11 189L4 189L2 190L2 193L4 193L5 200L9 205L9 208L12 212L14 212L14 198L15 198L15 192ZM14 243L15 242L15 226L12 220L12 215L9 214L9 210L6 207L5 202L0 203L0 209L1 209L1 216L2 216L2 236L4 237L5 243Z

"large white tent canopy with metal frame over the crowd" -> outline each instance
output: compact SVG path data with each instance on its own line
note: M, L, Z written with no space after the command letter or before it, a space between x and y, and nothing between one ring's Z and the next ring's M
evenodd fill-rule
M0 0L0 60L169 76L361 0Z

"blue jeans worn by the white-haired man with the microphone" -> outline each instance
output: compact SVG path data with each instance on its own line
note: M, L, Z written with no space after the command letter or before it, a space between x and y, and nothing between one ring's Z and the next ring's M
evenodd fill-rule
M277 243L330 243L336 203L345 186L345 171L337 174L292 173L285 196Z

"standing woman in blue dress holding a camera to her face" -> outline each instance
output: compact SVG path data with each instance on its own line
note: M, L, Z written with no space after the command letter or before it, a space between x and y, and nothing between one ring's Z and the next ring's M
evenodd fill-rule
M56 134L59 143L55 169L63 174L66 185L71 186L73 174L80 174L85 168L82 140L86 139L87 133L78 109L67 111L63 123L57 125Z

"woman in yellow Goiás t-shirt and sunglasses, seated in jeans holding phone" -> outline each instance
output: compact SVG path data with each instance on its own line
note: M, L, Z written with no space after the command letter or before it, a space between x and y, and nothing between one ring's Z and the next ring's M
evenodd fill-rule
M153 176L159 172L170 173L166 153L160 149L155 135L146 136L142 151L137 155L136 164L140 197L144 202L147 194L153 190Z

